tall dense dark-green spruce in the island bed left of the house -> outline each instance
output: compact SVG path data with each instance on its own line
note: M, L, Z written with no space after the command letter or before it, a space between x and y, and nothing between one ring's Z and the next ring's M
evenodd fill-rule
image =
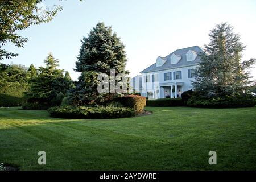
M97 23L88 38L82 39L79 56L76 61L75 71L81 72L76 88L71 90L70 99L73 104L83 105L92 101L104 101L117 94L100 94L97 92L100 73L110 75L110 69L115 69L115 74L129 73L125 70L127 62L125 46L112 32L111 27L104 23Z

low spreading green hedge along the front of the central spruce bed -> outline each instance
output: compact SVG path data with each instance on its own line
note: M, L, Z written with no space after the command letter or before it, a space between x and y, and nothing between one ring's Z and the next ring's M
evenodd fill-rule
M135 111L125 107L51 107L51 117L67 119L110 119L134 117Z

